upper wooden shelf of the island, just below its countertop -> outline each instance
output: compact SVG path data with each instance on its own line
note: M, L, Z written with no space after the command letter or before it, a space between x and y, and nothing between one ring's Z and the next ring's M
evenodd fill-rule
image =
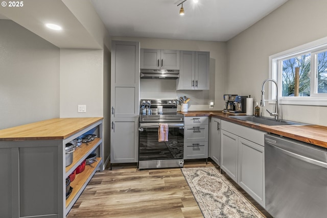
M101 138L95 138L93 141L88 143L82 143L81 146L77 147L73 153L73 163L66 166L66 177L68 177L75 168L86 159L90 152L96 149L102 142ZM99 154L97 154L99 156Z

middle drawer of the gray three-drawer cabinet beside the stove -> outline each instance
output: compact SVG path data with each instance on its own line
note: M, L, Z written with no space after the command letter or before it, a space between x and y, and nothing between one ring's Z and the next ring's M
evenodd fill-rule
M208 125L184 126L184 141L208 141Z

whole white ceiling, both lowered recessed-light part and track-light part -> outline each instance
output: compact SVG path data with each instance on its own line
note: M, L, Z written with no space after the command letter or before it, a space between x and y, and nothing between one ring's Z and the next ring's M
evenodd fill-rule
M60 48L101 49L94 35L99 29L89 25L99 19L92 4L111 36L227 41L287 2L198 1L184 2L180 16L181 0L28 0L24 7L0 7L0 19L11 19ZM44 28L46 22L60 24L63 31Z

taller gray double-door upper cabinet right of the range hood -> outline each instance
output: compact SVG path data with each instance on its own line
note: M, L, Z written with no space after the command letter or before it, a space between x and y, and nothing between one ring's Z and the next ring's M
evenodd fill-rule
M180 51L177 90L209 89L209 52Z

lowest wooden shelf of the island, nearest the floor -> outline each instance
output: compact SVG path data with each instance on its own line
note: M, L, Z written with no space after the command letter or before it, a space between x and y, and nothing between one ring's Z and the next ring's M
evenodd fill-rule
M89 180L96 173L98 166L102 163L102 158L98 157L97 160L98 162L85 165L84 171L80 174L76 174L75 180L71 183L71 186L73 187L71 196L69 196L69 198L66 200L66 210L71 209L73 204L69 204L71 204L74 199L75 203L75 201L80 196L81 192L84 190ZM70 206L70 208L68 206Z

